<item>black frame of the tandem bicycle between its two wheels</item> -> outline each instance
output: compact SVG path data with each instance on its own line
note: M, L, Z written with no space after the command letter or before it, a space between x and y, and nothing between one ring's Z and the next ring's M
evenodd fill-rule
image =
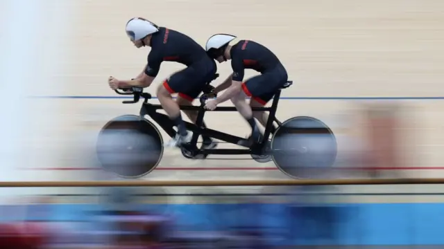
M264 131L264 139L259 142L258 146L255 147L256 150L262 150L265 143L268 141L268 136L270 136L271 128L273 126L273 122L276 122L278 126L281 122L275 118L276 110L278 109L278 102L280 98L280 92L275 94L273 98L273 103L271 107L252 107L253 111L268 111L268 121L266 123L265 131ZM200 135L208 136L210 138L216 138L218 140L222 140L224 142L229 142L234 145L239 145L241 141L247 141L246 138L241 138L239 136L233 136L229 133L224 133L221 131L216 131L210 128L203 128L203 117L207 110L204 108L205 102L201 101L200 106L180 106L181 110L185 111L198 111L198 117L196 120L196 124L191 122L185 122L185 125L189 131L193 131L193 138L191 139L190 145L196 146L197 140ZM163 109L160 104L151 104L148 103L148 99L146 98L144 104L140 109L140 116L143 118L144 116L150 116L157 124L159 124L162 129L168 133L169 136L176 136L176 131L173 129L176 124L164 113L158 113L157 110ZM216 107L213 111L237 111L236 107ZM243 154L252 154L253 149L198 149L198 154L219 154L219 155L243 155Z

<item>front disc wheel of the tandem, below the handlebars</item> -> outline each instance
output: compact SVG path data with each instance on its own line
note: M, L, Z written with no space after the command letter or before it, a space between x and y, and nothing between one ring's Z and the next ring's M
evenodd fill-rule
M96 151L103 169L122 178L152 172L164 152L163 139L152 122L135 115L119 116L101 129Z

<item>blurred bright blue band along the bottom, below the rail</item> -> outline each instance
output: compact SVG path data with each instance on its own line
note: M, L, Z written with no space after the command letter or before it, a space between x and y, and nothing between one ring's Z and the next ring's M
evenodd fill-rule
M3 221L23 220L4 211ZM37 209L49 208L42 217ZM26 219L90 223L99 204L30 205ZM442 203L319 204L141 204L138 210L167 210L176 227L193 231L256 230L280 245L430 245L443 244ZM35 216L33 213L35 211Z

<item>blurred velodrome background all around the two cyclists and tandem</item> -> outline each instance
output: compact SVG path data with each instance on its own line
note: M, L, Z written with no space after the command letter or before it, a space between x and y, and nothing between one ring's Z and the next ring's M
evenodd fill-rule
M108 120L139 111L107 83L110 75L135 77L146 64L149 48L135 48L124 33L132 17L202 46L230 33L273 50L294 82L282 91L278 118L312 116L335 133L338 156L323 178L443 175L443 1L1 0L0 12L0 181L121 179L101 169L96 139ZM180 68L163 63L153 84ZM230 64L218 73L225 78ZM205 122L249 133L239 113L207 113ZM288 178L250 156L185 160L164 151L157 169L132 181ZM3 187L0 194L0 248L444 244L441 185Z

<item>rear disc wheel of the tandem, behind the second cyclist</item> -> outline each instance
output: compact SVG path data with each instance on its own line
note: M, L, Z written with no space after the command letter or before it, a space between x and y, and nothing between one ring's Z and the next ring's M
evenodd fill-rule
M321 178L332 168L336 138L326 124L300 116L286 120L271 140L273 162L292 178Z

